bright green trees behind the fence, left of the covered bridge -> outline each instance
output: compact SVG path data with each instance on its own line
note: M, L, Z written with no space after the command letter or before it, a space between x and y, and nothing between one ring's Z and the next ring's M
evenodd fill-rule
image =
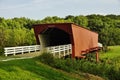
M0 18L0 53L4 47L36 44L32 25L35 20L28 18Z

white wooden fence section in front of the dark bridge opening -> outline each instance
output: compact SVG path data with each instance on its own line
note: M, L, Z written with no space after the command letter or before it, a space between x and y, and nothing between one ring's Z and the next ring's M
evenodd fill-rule
M53 53L53 56L63 57L66 55L70 55L72 53L71 44L67 45L59 45L59 46L51 46L46 48L47 51Z

